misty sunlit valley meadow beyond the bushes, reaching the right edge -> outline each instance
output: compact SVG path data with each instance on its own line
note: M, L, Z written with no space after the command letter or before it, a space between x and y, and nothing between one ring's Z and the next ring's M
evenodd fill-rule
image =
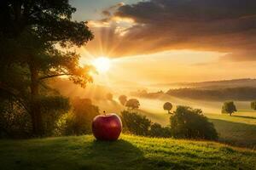
M158 122L167 126L170 122L170 116L164 111L162 105L163 99L139 99L140 109L138 112L148 116L152 122ZM193 108L200 108L209 121L214 124L218 131L219 142L232 144L240 147L256 147L256 111L250 109L250 103L247 101L238 101L236 103L237 112L233 116L221 114L222 102L201 101L192 99L178 99L171 97L173 105L172 111L175 111L177 105L189 105ZM118 106L113 101L97 101L101 111L117 112L124 110L125 107Z

